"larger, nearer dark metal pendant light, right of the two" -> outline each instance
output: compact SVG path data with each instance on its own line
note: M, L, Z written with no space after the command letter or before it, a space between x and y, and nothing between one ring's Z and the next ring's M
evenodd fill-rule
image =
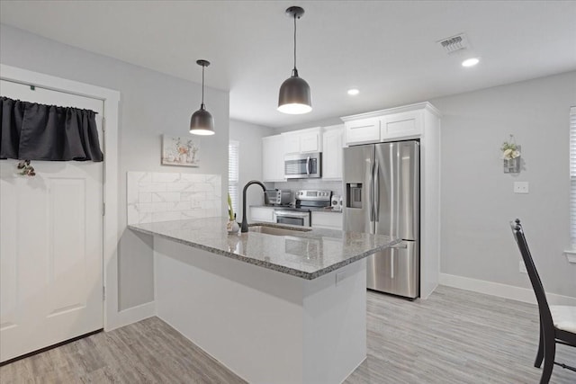
M278 111L290 114L302 114L312 111L310 85L298 76L296 69L296 19L300 19L304 10L299 6L286 9L286 15L294 19L294 68L292 76L280 86Z

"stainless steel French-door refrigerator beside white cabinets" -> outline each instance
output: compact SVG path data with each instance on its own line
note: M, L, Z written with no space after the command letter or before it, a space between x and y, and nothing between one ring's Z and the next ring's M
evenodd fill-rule
M368 257L367 288L419 297L419 142L344 148L344 228L399 237Z

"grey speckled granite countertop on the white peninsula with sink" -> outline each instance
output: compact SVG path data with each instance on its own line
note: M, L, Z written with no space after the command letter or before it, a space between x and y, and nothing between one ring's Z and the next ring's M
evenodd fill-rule
M316 279L401 242L401 239L384 235L331 229L312 228L311 231L304 232L302 227L293 227L294 236L257 232L229 235L226 231L227 221L219 217L134 224L128 227L136 232L165 237L212 254L306 280ZM271 223L251 225L258 224L266 227L290 227Z

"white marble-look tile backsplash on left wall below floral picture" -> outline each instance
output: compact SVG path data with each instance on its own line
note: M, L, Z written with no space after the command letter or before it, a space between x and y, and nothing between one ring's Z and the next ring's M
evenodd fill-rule
M221 215L220 174L128 172L128 224Z

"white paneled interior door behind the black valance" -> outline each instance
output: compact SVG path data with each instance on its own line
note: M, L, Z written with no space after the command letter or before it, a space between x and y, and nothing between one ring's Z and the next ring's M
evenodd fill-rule
M98 112L103 102L4 80L0 94ZM0 362L103 328L103 163L0 160Z

